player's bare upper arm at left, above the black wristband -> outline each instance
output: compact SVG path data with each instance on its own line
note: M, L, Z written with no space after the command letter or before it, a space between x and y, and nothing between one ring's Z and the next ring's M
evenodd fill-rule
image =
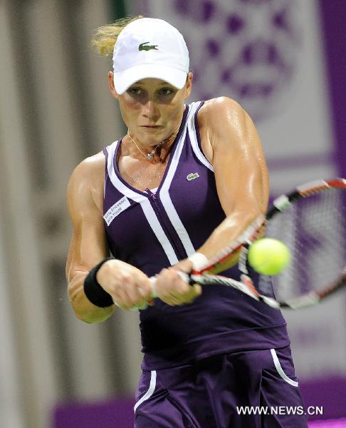
M108 255L103 225L104 161L88 158L73 171L68 183L67 203L73 223L66 276L72 282Z

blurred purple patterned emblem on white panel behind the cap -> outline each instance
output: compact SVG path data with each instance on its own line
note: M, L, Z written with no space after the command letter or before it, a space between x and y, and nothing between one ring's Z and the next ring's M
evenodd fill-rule
M293 6L293 0L172 1L179 29L193 46L193 98L229 94L255 119L273 114L274 104L287 93L300 50ZM203 31L190 44L192 25Z

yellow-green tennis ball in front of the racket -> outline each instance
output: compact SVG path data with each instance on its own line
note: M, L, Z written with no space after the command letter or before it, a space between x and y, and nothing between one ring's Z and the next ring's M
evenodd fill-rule
M248 250L248 263L264 275L278 275L290 263L290 250L272 238L257 240Z

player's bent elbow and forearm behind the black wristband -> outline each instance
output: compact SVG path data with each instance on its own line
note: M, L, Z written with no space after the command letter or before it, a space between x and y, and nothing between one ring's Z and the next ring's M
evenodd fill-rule
M76 317L85 322L103 322L108 320L115 305L98 307L88 300L84 292L84 280L88 272L75 272L68 284L68 296Z

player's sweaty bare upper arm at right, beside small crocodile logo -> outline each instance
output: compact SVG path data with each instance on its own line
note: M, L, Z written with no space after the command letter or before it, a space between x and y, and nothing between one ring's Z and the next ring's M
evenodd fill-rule
M203 108L201 136L210 148L216 188L224 212L251 217L265 213L268 170L253 121L230 98L210 100L204 111Z

